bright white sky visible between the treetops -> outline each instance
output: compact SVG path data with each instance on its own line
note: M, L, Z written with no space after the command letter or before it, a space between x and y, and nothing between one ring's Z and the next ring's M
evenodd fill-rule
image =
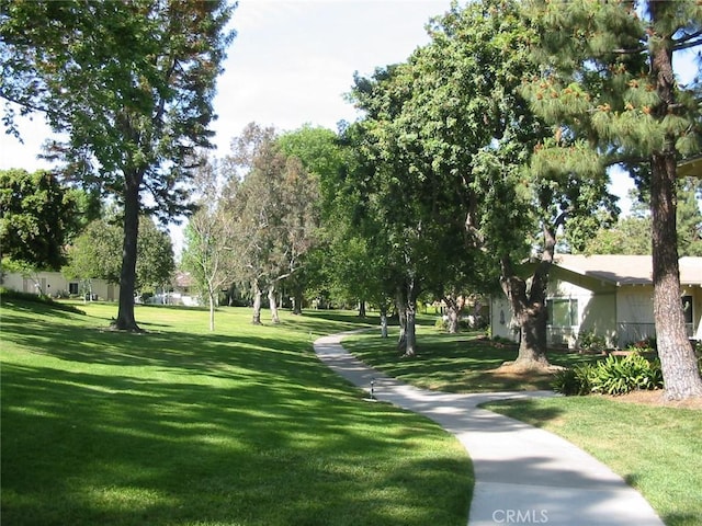
M449 7L450 0L240 0L233 16L238 35L215 99L216 155L253 121L281 130L305 123L336 130L339 121L353 121L343 99L353 72L404 61L428 42L429 19ZM46 168L36 159L50 136L41 116L20 129L24 144L0 135L0 169ZM632 186L627 174L613 174L618 195Z

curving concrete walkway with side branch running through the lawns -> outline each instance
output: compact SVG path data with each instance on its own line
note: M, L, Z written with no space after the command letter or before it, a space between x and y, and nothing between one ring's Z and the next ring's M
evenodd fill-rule
M325 364L369 393L374 380L377 400L435 421L468 451L475 471L468 526L663 526L644 498L599 460L552 433L476 407L552 392L450 395L417 389L355 359L341 346L343 335L314 343Z

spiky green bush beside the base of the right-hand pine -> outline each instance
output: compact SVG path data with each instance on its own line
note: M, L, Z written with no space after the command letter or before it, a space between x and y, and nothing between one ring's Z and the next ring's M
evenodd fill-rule
M663 388L660 362L632 353L610 355L597 364L566 369L554 377L553 388L562 395L625 395L635 390Z

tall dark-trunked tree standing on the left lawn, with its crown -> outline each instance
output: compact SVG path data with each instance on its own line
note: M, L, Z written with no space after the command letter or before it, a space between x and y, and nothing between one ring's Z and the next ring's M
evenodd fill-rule
M2 82L14 111L45 114L68 135L50 152L86 186L124 207L120 307L115 325L134 317L141 213L165 220L191 207L184 183L194 149L210 147L212 100L235 5L225 0L34 2L2 0ZM145 205L143 191L152 196Z

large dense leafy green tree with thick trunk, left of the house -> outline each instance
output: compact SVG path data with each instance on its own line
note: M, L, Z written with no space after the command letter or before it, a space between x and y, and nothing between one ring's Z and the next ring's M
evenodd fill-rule
M596 210L609 210L608 217L616 211L605 172L597 163L585 173L531 163L554 130L520 93L522 77L536 70L529 50L536 35L520 20L516 2L454 4L432 22L430 35L431 43L407 65L381 71L377 85L356 82L356 91L370 99L362 107L380 123L371 129L380 145L376 157L392 160L386 187L404 183L388 194L393 213L386 217L395 220L405 213L421 225L423 233L416 239L431 247L426 253L432 263L437 254L453 255L437 268L460 272L455 258L475 270L498 267L521 329L517 365L545 366L545 297L556 232L565 227L581 241L597 226ZM393 77L400 80L384 90ZM455 232L456 224L463 235ZM462 254L452 252L458 240L465 242ZM528 279L519 263L532 250L539 262ZM441 283L431 270L415 275L424 287ZM490 274L483 277L488 283Z

